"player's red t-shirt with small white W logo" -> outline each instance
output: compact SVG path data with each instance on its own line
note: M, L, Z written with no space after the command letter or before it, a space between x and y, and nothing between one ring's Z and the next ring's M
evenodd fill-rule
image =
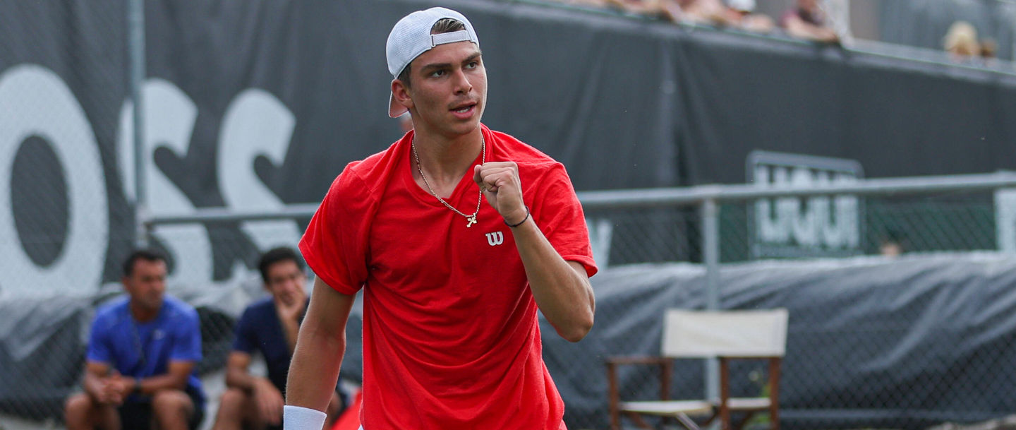
M554 248L595 273L564 166L482 129L487 162L518 164L522 198ZM364 288L364 429L564 429L511 229L486 199L467 228L417 185L411 138L346 166L300 242L326 284ZM478 196L469 169L446 201L471 214Z

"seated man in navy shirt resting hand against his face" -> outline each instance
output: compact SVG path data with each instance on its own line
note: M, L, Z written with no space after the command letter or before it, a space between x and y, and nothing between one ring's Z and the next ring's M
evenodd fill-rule
M290 360L310 301L307 277L303 261L290 248L265 252L258 269L271 295L248 306L237 323L236 341L227 361L227 389L215 417L216 430L281 428ZM255 353L264 358L267 377L249 372ZM338 417L344 397L336 387L324 428L330 428Z

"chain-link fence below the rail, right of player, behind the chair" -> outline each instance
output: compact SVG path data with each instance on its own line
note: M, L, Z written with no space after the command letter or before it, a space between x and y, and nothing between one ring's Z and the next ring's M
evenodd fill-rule
M1016 277L1007 256L1016 205L1003 183L964 183L972 184L964 177L869 180L855 183L860 194L762 198L750 186L586 193L597 260L657 264L594 279L614 301L597 303L597 324L628 333L604 334L593 341L595 359L575 360L601 368L604 356L658 354L657 313L711 307L713 290L718 308L790 310L784 427L926 428L1011 413L1016 405L991 398L1008 398L1016 382L1000 372L1016 347L1016 326L1001 310L1010 307L1006 292ZM706 238L707 200L716 203L715 240ZM718 248L712 263L710 244ZM983 266L976 255L1003 262ZM695 264L668 263L675 260ZM621 400L658 398L658 372L622 366ZM701 398L704 372L700 361L679 360L671 398ZM764 363L739 363L733 375L736 394L762 392ZM594 385L606 408L606 388ZM580 428L607 426L602 416L573 419ZM753 422L764 424L765 416Z

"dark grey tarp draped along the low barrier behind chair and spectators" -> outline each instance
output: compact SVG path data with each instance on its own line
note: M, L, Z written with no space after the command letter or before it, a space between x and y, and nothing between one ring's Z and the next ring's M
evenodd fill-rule
M1016 410L1016 257L1000 254L852 257L724 265L720 307L783 307L790 320L780 386L787 428L922 428L974 422ZM701 309L704 269L687 263L608 268L592 278L596 321L577 344L541 320L544 357L566 404L569 428L607 428L604 359L656 355L662 313ZM230 319L250 300L198 289L184 296L202 323ZM99 300L92 300L99 302ZM58 414L75 389L82 330L93 306L81 300L0 302L0 411ZM362 311L347 326L345 377L361 371ZM214 325L214 324L210 324ZM17 328L13 328L16 326ZM207 360L225 358L227 334L203 330ZM204 371L209 366L201 367ZM677 366L673 398L703 393L702 366ZM752 364L735 367L736 393L754 395ZM25 380L29 375L42 375ZM626 368L625 398L651 398L655 370ZM40 418L40 417L34 417Z

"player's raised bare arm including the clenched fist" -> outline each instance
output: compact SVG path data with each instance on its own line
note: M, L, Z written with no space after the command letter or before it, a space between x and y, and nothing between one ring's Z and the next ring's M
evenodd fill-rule
M487 201L513 227L515 246L541 312L558 334L578 342L592 328L595 299L585 268L565 261L539 231L522 202L518 166L513 162L485 163L473 170L473 181Z

